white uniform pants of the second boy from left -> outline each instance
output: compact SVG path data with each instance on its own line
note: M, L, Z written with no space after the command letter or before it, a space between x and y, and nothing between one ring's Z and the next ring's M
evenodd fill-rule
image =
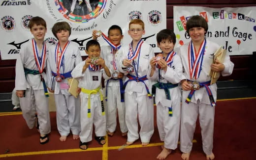
M79 98L61 94L54 94L57 114L57 128L59 133L67 136L70 133L80 133L80 102Z

